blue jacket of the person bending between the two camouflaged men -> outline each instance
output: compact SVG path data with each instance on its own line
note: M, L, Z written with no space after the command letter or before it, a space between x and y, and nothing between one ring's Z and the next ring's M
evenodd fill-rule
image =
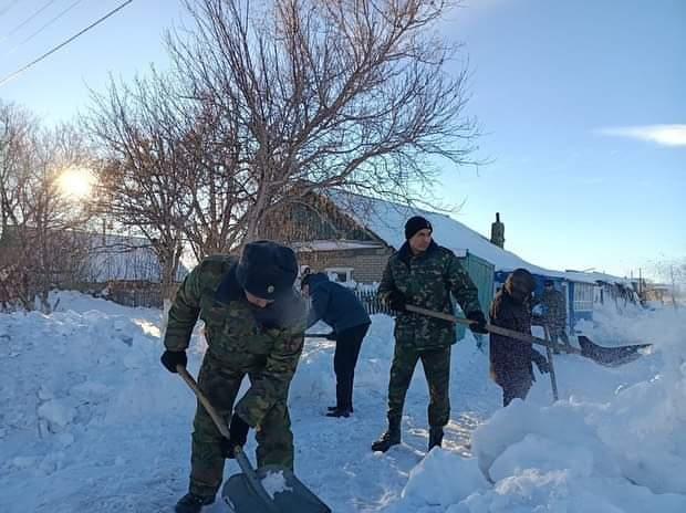
M355 326L370 324L370 316L357 296L332 281L324 273L312 274L308 279L312 307L308 315L308 327L319 320L324 321L336 333Z

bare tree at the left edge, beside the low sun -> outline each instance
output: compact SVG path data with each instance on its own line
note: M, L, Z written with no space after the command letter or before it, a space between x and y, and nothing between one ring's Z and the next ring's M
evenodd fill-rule
M3 295L27 310L38 297L49 312L51 287L72 282L85 258L79 231L91 211L60 190L60 177L73 166L89 166L87 151L69 125L41 130L17 107L0 113Z

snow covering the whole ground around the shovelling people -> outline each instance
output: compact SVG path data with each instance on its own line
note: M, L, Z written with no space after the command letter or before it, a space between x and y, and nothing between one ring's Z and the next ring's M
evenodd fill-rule
M297 474L335 513L686 511L683 311L596 318L583 326L595 342L655 346L615 368L560 356L555 405L543 376L527 402L501 409L487 356L461 341L446 442L428 456L420 366L403 444L370 451L385 427L391 318L374 317L350 419L323 416L333 345L308 339L290 399ZM159 321L159 311L75 293L50 316L0 315L0 512L173 511L186 492L195 400L158 363ZM204 348L195 336L194 374ZM227 475L236 471L228 462Z

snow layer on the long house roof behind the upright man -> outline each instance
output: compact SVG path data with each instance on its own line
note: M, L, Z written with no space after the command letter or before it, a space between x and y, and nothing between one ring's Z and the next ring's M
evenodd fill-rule
M609 274L563 272L540 268L527 262L511 251L499 248L479 232L445 213L430 212L342 191L330 191L328 196L346 214L396 250L405 242L405 221L412 216L422 216L428 219L434 227L434 238L438 244L453 250L458 255L465 254L467 251L476 254L492 263L496 271L509 272L523 268L533 274L573 282L595 283L600 280L609 283L628 284L627 280Z

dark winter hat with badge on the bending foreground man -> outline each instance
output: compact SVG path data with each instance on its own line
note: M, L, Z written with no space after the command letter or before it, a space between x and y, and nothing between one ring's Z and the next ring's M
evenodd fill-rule
M246 244L236 268L239 285L262 300L285 295L297 276L298 259L293 250L266 240Z

